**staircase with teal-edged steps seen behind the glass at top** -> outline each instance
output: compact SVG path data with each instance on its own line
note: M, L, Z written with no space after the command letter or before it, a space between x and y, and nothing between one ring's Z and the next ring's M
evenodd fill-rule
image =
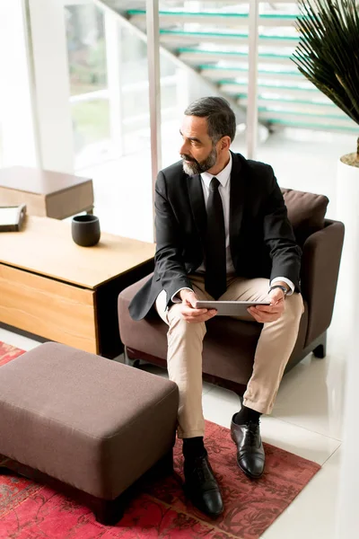
M145 31L144 0L102 0ZM293 64L295 0L259 3L258 119L267 125L348 132L355 123ZM161 0L160 42L222 93L248 104L249 2Z

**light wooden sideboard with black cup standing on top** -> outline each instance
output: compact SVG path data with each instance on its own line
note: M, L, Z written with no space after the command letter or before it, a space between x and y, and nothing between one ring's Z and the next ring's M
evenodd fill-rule
M0 323L107 358L122 351L118 294L153 270L154 244L101 233L80 247L71 223L27 216L0 233Z

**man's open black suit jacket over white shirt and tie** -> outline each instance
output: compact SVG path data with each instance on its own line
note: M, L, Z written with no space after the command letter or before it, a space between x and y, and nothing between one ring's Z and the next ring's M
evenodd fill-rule
M159 172L155 186L156 254L153 278L133 298L129 312L141 320L162 289L167 304L188 274L204 260L206 206L199 174L188 176L182 162ZM271 166L232 154L230 246L237 275L289 278L299 290L301 250L295 243L285 201Z

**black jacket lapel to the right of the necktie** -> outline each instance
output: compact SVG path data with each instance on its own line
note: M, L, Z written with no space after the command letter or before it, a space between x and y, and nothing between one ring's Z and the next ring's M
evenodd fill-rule
M232 153L232 152L231 152ZM232 260L238 256L237 246L241 232L241 219L244 205L245 173L241 158L232 153L232 172L230 188L230 245Z

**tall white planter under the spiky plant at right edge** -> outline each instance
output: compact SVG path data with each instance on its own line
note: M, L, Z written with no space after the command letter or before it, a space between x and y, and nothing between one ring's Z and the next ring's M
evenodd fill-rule
M359 379L359 168L339 162L337 167L337 219L346 225L337 297L340 299L342 334L346 337L346 402L341 446L340 485L336 537L357 536L359 514L357 487L359 431L357 398Z

